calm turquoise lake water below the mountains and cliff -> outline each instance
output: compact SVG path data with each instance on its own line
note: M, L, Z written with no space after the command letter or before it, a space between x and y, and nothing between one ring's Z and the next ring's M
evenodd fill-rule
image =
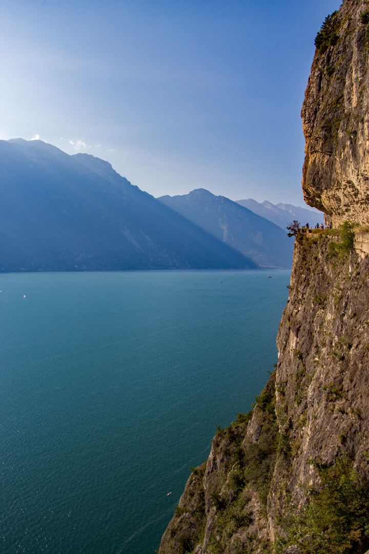
M2 551L154 553L277 361L290 272L269 275L0 275Z

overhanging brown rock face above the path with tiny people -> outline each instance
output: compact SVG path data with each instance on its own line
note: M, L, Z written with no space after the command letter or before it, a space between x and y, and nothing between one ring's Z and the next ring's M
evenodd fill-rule
M334 227L369 223L368 8L346 0L326 22L302 109L305 201Z

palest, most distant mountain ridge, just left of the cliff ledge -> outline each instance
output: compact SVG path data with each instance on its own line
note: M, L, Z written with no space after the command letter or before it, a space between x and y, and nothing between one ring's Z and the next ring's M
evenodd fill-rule
M252 212L257 213L259 216L269 219L269 221L276 223L276 225L285 230L293 219L297 219L302 225L309 223L310 227L315 227L316 223L323 223L323 213L318 211L313 212L313 210L293 206L293 204L272 204L268 200L259 203L252 198L237 200L236 202L245 208L251 209Z

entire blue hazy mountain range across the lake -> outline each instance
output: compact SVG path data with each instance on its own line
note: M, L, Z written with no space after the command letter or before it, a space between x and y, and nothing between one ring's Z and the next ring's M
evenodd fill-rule
M290 268L285 227L311 214L203 188L155 199L100 158L0 140L0 271Z

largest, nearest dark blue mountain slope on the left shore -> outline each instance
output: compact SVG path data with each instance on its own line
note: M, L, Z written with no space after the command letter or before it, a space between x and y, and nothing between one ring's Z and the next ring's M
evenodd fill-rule
M0 270L254 268L110 163L0 141Z

